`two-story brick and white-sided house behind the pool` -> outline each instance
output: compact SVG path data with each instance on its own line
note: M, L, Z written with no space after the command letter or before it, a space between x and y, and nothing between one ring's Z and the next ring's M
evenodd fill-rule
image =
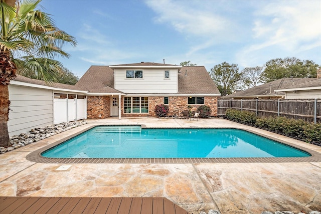
M91 66L76 87L88 91L87 118L155 116L155 106L169 105L169 115L200 105L217 116L220 92L204 66L159 63Z

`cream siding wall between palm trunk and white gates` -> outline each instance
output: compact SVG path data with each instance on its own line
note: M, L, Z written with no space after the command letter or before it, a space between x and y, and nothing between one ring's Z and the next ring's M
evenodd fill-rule
M53 124L52 90L9 85L9 135Z

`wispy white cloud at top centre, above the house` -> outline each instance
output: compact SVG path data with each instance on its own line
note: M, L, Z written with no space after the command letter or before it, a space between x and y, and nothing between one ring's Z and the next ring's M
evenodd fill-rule
M226 39L233 23L213 11L215 4L199 1L146 1L157 16L156 23L165 23L188 36ZM215 3L215 2L214 2ZM222 35L226 33L225 35Z

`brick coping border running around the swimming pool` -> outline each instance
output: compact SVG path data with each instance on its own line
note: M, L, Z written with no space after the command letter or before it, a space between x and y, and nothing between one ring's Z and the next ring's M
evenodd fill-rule
M299 150L303 150L309 153L311 156L308 157L218 157L218 158L51 158L44 157L41 155L44 151L51 149L58 144L65 142L89 129L92 129L96 126L140 126L141 128L153 129L153 128L161 128L161 129L177 129L178 127L146 127L143 124L135 124L135 125L92 125L89 126L77 133L71 134L68 137L57 140L54 143L51 143L47 146L44 146L36 151L31 152L26 156L27 160L37 162L37 163L61 163L61 164L76 164L76 163L284 163L284 162L320 162L321 161L321 153L308 149L306 147L293 144L291 142L287 142L284 140L276 139L262 133L258 133L253 130L243 129L243 128L231 128L231 127L181 127L183 129L238 129L244 130L285 145L294 147ZM302 142L304 143L304 142Z

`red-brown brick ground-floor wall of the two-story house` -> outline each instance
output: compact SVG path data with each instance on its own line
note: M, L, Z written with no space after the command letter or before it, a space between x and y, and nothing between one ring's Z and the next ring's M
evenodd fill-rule
M172 96L169 97L169 116L179 114L183 110L188 110L188 97ZM142 114L123 113L124 98L121 97L121 116L142 117L156 116L155 107L158 104L164 104L164 97L148 97L148 112ZM217 116L217 97L204 97L204 105L212 109L211 116ZM200 105L191 105L192 111L197 110ZM101 117L99 117L101 115ZM110 117L110 97L88 96L87 97L87 118L106 118Z

